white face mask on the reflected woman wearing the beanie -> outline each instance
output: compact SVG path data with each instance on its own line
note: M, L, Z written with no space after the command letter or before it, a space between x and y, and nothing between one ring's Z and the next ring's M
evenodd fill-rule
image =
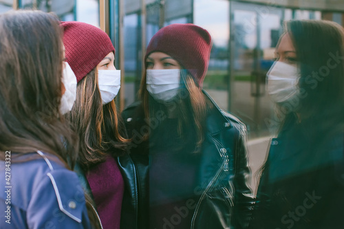
M147 90L162 102L169 102L180 89L180 69L147 69Z

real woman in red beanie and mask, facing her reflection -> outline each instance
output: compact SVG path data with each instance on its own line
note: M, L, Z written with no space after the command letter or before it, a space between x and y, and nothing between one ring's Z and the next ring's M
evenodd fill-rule
M80 138L76 171L102 228L118 229L125 184L132 179L125 168L129 141L114 100L120 89L115 49L109 36L93 25L61 25L66 61L78 81L75 105L66 116Z

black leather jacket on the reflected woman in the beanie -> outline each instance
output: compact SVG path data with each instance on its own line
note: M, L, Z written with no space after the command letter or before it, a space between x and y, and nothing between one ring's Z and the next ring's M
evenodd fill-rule
M204 94L211 100L211 98ZM200 198L191 228L246 228L253 199L248 187L250 171L246 153L246 127L234 116L215 109L206 118L206 135L200 164ZM145 124L140 103L122 112L127 132L133 138L130 157L119 160L127 179L121 228L149 228L148 146L136 133Z

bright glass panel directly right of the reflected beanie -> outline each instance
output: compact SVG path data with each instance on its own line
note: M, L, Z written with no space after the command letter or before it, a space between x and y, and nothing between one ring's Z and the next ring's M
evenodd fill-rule
M193 14L195 25L208 30L213 39L211 60L203 88L220 108L228 110L229 3L195 0Z

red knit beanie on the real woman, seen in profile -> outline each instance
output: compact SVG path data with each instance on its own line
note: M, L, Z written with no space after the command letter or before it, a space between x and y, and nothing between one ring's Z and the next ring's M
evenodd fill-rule
M103 30L78 21L62 22L65 58L79 82L109 52L115 52L111 39Z

